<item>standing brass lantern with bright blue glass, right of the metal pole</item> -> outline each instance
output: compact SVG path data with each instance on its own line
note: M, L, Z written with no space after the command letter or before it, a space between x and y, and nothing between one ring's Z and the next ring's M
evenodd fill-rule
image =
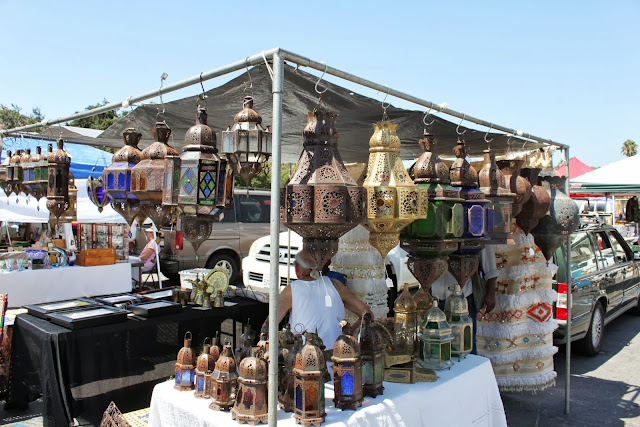
M333 344L333 402L336 408L356 410L362 406L362 359L358 341L343 321L342 335Z

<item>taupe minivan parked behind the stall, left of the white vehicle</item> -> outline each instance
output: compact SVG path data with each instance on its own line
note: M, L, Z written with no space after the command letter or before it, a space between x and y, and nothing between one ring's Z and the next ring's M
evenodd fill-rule
M200 245L198 258L180 231L163 229L164 245L160 253L160 270L170 279L191 268L226 267L231 283L240 279L240 262L253 242L269 233L271 193L268 190L237 188L233 208L224 210L222 221L215 222L209 239Z

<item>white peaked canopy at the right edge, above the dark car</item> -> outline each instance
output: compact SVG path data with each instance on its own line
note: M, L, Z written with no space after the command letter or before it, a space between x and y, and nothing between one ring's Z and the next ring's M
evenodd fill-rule
M571 165L569 165L571 167ZM610 163L571 180L571 193L640 193L640 155Z

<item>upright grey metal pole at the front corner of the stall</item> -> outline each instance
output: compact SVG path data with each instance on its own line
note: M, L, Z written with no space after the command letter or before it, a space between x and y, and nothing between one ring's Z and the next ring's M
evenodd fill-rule
M278 424L278 296L280 290L280 148L282 143L282 86L284 55L273 54L273 122L271 123L271 253L269 257L269 426Z

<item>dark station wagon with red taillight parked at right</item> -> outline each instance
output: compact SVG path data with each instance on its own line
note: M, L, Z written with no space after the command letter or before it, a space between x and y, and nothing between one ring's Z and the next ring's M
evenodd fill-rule
M567 280L565 250L556 251L559 328L554 342L566 342ZM618 231L607 224L586 225L571 235L573 315L571 341L583 353L600 352L605 326L622 313L640 314L640 261Z

